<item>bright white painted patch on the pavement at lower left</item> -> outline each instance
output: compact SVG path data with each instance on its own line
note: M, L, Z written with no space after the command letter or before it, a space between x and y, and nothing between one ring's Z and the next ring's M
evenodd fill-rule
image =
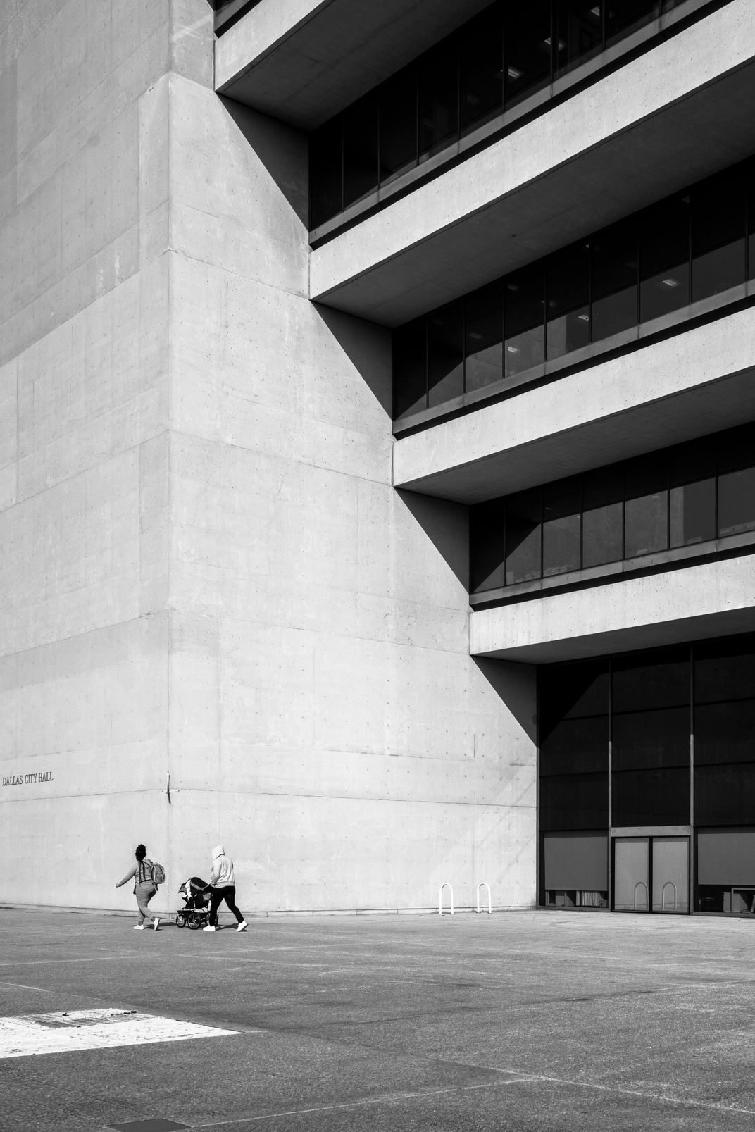
M254 1031L252 1031L254 1032ZM178 1022L125 1010L69 1010L0 1018L0 1058L63 1054L79 1049L143 1046L153 1041L238 1036L238 1030Z

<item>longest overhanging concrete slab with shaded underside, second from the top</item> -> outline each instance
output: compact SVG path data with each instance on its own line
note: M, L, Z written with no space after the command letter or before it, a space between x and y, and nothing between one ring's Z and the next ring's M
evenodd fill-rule
M407 321L744 158L754 114L732 0L316 248L310 298Z

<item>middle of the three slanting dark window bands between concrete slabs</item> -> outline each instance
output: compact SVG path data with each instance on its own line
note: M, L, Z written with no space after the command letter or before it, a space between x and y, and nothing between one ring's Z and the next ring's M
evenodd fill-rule
M719 173L394 335L394 418L565 358L755 277L755 162ZM736 295L736 292L732 292ZM726 300L720 300L726 301ZM451 365L453 379L437 377Z

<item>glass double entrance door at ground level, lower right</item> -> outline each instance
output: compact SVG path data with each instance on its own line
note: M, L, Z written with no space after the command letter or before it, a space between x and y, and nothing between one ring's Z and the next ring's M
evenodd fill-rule
M689 911L689 838L614 838L614 910Z

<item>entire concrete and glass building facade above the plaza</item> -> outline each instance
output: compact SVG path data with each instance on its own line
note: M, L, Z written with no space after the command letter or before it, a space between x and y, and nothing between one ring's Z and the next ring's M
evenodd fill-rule
M686 821L595 809L629 764L652 792L666 748L554 786L542 726L578 660L614 681L589 718L616 751L601 658L703 666L692 643L730 637L747 667L753 491L722 461L755 419L752 5L216 7L0 16L0 842L26 877L0 899L128 907L144 841L169 908L220 840L249 912L427 910L443 882L461 907L481 882L498 908L623 907L617 877L650 909L664 854L675 910L749 909L755 859L726 908L700 898L696 855L749 831L697 822L693 779ZM724 199L740 237L713 231ZM611 250L626 225L638 252ZM679 446L724 432L679 480ZM632 495L651 457L664 486ZM618 557L574 560L587 489L550 533L543 494L619 464ZM638 504L629 552L651 498L671 525L645 538ZM580 820L561 780L587 773Z

